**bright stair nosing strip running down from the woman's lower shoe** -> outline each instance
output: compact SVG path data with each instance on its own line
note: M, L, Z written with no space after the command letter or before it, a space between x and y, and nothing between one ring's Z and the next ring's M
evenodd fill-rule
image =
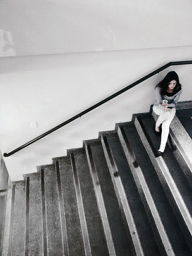
M140 124L141 120L138 120L138 122ZM141 127L141 129L143 130L142 127ZM150 148L149 138L146 138L146 142L148 143L149 148ZM151 159L151 156L150 156L150 159ZM188 231L189 231L189 233L191 234L191 237L192 237L192 217L191 217L191 214L189 213L189 210L188 210L188 208L187 208L187 206L186 206L186 204L185 204L185 202L182 198L182 195L179 192L179 189L178 189L175 181L173 180L173 177L170 174L169 168L167 167L167 165L166 165L162 156L158 156L158 157L153 156L153 159L151 159L151 160L152 160L152 163L153 163L154 160L158 163L158 166L161 169L161 173L163 174L164 179L166 180L166 183L167 183L167 186L170 190L170 193L171 193L172 197L174 198L174 200L176 202L176 205L177 205L177 207L178 207L178 209L179 209L179 211L182 215L182 218L183 218L183 220L184 220L184 222L185 222L185 224L188 228ZM159 176L158 171L157 171L157 174ZM165 186L165 184L164 184L164 186ZM177 200L178 198L179 198L179 201ZM182 209L182 211L181 211L181 209ZM187 219L185 218L185 216L187 217Z

